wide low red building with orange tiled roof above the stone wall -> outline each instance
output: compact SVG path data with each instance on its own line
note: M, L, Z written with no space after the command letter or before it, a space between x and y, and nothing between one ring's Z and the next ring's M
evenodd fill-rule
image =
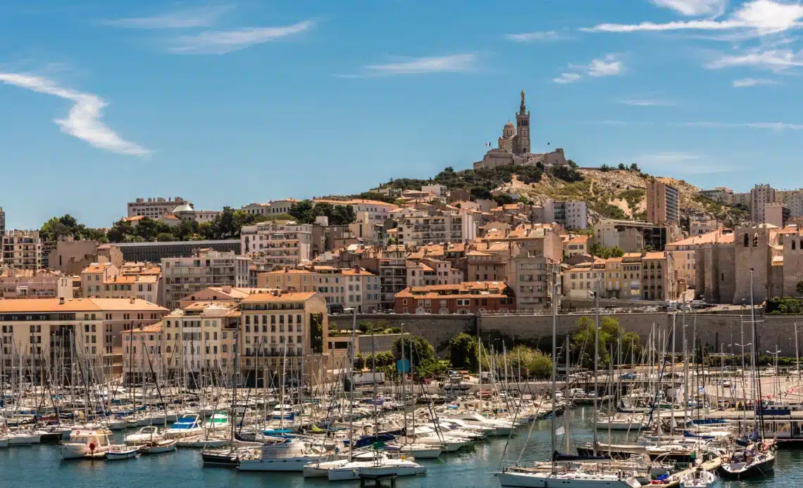
M501 281L467 281L405 288L396 294L396 313L491 313L516 310L516 296Z

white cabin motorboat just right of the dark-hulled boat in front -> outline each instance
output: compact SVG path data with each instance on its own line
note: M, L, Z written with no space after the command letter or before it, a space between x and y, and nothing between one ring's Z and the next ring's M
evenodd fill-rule
M337 458L336 452L310 446L300 439L275 439L243 454L239 460L239 470L302 472L308 464Z

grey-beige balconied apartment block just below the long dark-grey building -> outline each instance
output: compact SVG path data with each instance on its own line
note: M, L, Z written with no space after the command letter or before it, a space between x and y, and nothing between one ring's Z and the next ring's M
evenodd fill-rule
M175 309L179 300L204 288L233 286L242 281L243 277L237 275L236 257L234 252L201 249L192 257L161 260L167 308Z

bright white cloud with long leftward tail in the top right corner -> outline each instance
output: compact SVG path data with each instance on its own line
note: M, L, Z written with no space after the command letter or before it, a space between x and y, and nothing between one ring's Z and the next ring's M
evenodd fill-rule
M665 30L741 30L750 37L777 34L803 26L803 5L777 0L750 0L724 20L675 21L666 23L599 24L588 32L655 32Z

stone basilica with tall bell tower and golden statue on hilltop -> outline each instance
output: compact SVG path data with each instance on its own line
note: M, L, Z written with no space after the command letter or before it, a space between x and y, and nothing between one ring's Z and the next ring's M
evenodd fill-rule
M497 141L498 147L485 153L482 161L474 163L474 169L492 168L510 165L535 165L541 163L544 167L567 164L563 149L533 154L530 143L530 111L524 100L524 91L521 92L521 103L516 113L516 125L508 120L502 128L502 135Z

